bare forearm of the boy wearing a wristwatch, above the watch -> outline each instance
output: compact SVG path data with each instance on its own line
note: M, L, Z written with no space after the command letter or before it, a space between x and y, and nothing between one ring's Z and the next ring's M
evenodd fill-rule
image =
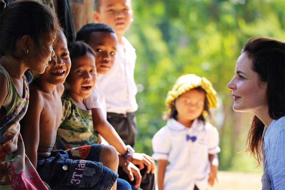
M99 132L99 134L120 154L127 152L127 147L123 140L120 138L113 126L104 119L103 113L99 108L92 108L93 127Z

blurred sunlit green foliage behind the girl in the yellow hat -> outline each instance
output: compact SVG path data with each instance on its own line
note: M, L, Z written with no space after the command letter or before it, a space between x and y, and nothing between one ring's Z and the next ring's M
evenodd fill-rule
M209 79L219 93L213 122L220 135L219 169L257 171L251 169L254 160L235 153L245 150L252 115L233 112L227 83L249 38L285 40L285 1L133 0L132 7L134 22L125 36L137 53L136 152L152 155L151 139L166 124L167 92L179 76L194 73Z

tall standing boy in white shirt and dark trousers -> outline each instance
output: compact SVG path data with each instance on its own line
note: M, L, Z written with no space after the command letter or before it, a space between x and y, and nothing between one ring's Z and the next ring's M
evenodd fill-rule
M131 0L95 0L95 8L94 21L111 26L119 42L113 69L98 78L105 95L107 120L123 142L134 147L137 134L134 112L138 109L135 97L137 86L134 79L137 56L133 46L124 37L124 33L133 22ZM125 175L125 172L120 171L122 170L119 168L120 176ZM154 174L142 170L141 174L141 188L155 189Z

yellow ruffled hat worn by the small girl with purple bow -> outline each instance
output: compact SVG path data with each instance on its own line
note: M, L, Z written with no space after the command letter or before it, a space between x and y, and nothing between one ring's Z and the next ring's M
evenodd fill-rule
M217 108L217 92L213 89L212 83L205 77L199 77L195 74L187 74L179 77L172 90L168 91L165 100L167 112L171 111L171 103L180 95L193 88L201 87L206 91L206 97L209 102L209 108ZM204 114L203 114L204 115Z

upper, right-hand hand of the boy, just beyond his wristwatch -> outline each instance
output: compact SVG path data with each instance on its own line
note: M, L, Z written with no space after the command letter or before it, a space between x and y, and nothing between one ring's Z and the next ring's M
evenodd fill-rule
M146 173L149 173L150 171L151 173L154 173L155 162L152 157L144 153L134 153L131 158L128 158L128 160L135 165L139 165L139 169L143 169L144 165L146 165Z

